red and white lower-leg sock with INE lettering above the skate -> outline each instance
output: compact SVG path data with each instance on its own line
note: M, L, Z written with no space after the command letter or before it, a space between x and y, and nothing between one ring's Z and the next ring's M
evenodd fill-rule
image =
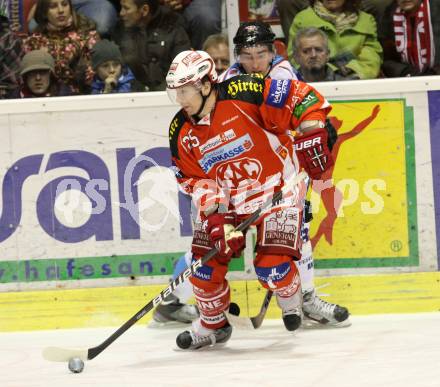
M200 312L200 323L210 329L218 329L227 322L224 311L229 308L231 294L229 284L222 284L201 289L193 286L194 297Z

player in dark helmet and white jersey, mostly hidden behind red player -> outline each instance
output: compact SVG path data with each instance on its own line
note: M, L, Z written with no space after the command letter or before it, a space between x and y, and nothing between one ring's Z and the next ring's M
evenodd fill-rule
M300 79L300 75L290 63L276 54L274 39L275 34L267 23L261 21L242 23L234 37L234 54L237 61L220 75L219 80L224 81L246 73L261 73L264 77L273 79ZM308 210L304 211L305 219L301 232L302 256L301 260L296 262L302 284L303 313L306 318L321 324L337 325L347 320L349 312L343 306L321 299L316 293L312 246L309 239L310 204L308 206ZM186 264L190 262L189 254L180 258L174 276L180 274L182 267L185 267L185 262ZM158 322L189 322L197 318L196 307L186 304L190 296L191 285L189 281L186 281L176 289L174 295L170 296L169 303L158 306L153 318Z

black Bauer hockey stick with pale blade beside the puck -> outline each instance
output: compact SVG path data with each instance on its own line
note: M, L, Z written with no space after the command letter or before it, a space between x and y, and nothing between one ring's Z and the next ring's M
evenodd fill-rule
M303 171L293 177L290 181L286 181L283 188L276 192L271 199L263 204L258 210L252 213L246 220L240 223L236 227L236 231L246 230L252 223L256 222L263 211L266 211L274 204L279 202L283 198L283 193L285 193L292 186L295 186L300 181L305 179L307 174ZM149 311L154 309L157 305L162 303L167 296L173 293L178 285L184 282L186 279L191 277L198 268L203 266L212 257L218 253L217 249L212 248L207 254L205 254L201 259L193 262L191 266L180 273L174 281L172 281L164 290L160 292L158 296L153 298L148 304L146 304L142 309L140 309L133 317L131 317L127 322L124 323L120 328L118 328L113 334L111 334L106 340L96 347L88 349L68 349L60 347L47 347L43 350L43 357L49 361L69 361L73 357L80 358L81 360L92 360L98 356L102 351L104 351L111 343L113 343L118 337L120 337L124 332L136 324L142 317L144 317ZM263 316L264 317L264 316Z

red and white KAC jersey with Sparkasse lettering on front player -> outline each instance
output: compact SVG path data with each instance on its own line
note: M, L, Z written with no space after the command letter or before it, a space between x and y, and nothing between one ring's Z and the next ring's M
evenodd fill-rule
M210 115L194 122L180 110L171 122L176 176L197 202L223 195L229 210L249 214L298 173L291 131L304 120L325 121L331 107L293 80L242 75L217 84L216 92Z

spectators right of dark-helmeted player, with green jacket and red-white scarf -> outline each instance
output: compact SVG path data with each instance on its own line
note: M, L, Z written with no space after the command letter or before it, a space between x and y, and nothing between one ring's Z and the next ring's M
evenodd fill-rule
M296 35L313 27L327 36L335 80L440 74L438 1L278 0L278 6L296 65L302 50ZM319 48L308 47L309 61L318 60ZM328 80L322 74L312 79Z

